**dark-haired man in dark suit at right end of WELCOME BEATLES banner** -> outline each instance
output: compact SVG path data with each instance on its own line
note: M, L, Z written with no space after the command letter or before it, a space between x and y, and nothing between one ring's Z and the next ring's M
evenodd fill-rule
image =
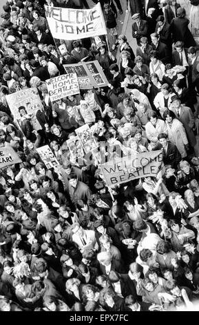
M168 141L166 133L160 133L158 140L163 147L163 163L165 165L171 165L172 168L177 168L178 163L182 160L182 156L178 151L176 145Z

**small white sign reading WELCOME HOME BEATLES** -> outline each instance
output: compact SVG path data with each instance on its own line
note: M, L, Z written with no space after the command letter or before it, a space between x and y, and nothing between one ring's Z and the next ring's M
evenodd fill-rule
M50 95L50 100L60 100L63 97L76 95L79 93L78 80L76 73L59 75L45 80Z

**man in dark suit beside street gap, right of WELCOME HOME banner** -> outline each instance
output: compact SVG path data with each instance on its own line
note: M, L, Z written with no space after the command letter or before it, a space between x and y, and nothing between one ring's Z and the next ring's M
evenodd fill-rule
M140 38L147 37L148 24L147 21L140 18L140 14L136 13L132 16L134 23L132 24L132 36L136 38L137 44L140 45Z

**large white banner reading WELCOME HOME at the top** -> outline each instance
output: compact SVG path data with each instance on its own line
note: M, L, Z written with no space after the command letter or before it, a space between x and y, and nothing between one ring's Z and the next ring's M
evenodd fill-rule
M56 39L83 39L107 34L101 4L90 9L45 6L45 16Z

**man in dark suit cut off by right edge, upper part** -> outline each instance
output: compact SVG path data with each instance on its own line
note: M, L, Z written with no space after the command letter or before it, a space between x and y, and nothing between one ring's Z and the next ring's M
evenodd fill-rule
M189 69L188 84L189 89L197 89L199 93L199 57L196 55L196 48L191 46L188 49Z

